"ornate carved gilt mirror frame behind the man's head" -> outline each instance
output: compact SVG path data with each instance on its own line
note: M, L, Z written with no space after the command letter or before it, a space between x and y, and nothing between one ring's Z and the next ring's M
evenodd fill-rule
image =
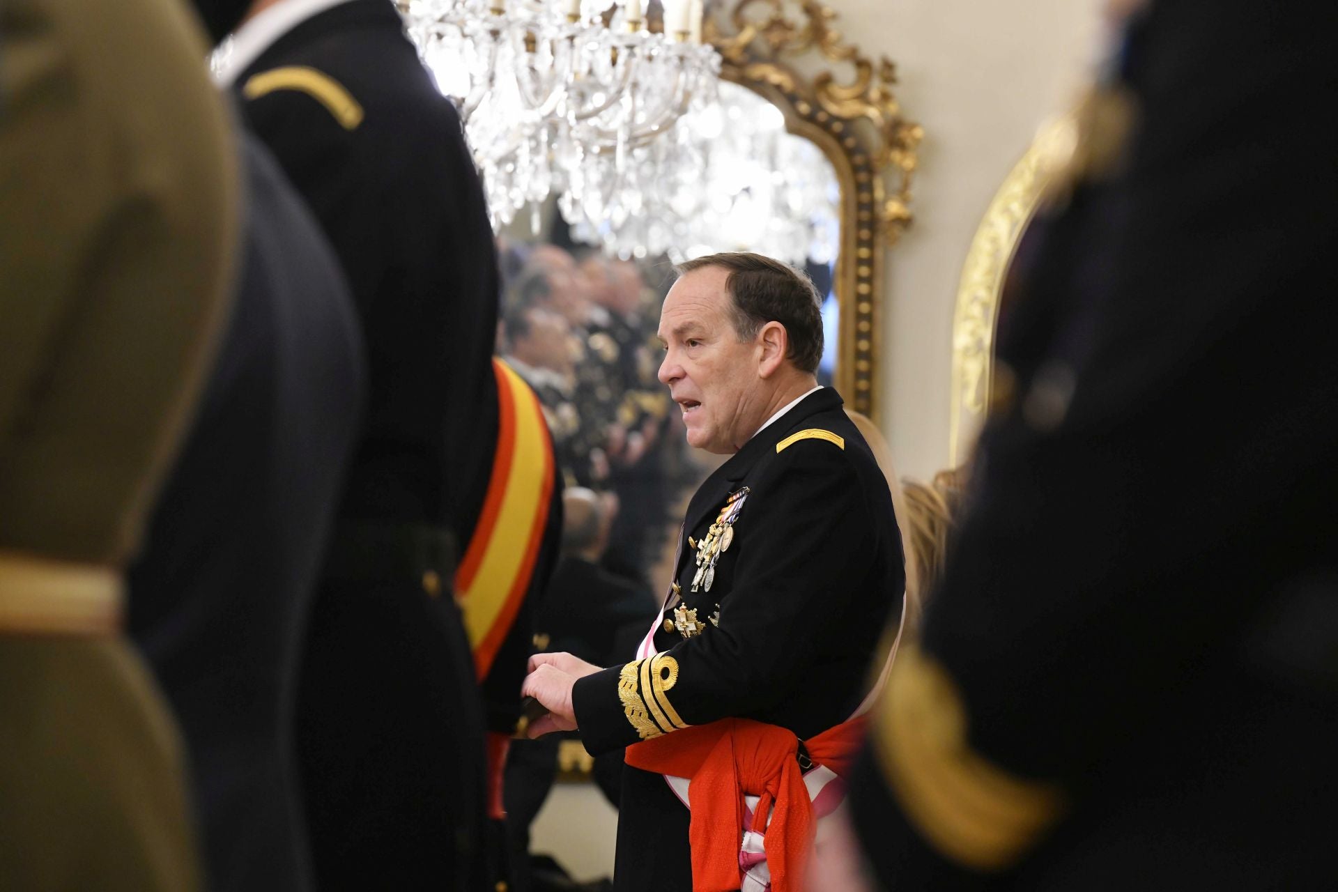
M879 313L886 251L911 223L911 183L923 130L902 116L896 68L876 63L834 27L836 13L814 0L710 4L705 39L720 51L721 76L757 92L785 115L789 132L831 160L842 191L836 389L876 420ZM838 63L812 79L804 55Z

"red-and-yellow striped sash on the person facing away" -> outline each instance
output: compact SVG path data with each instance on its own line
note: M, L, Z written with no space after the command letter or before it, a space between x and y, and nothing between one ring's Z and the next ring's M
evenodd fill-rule
M498 448L483 512L455 571L455 596L486 678L534 576L553 495L553 443L534 391L494 357Z

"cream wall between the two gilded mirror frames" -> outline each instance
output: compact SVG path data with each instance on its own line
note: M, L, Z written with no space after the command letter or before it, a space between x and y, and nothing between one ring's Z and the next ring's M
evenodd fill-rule
M915 223L887 269L879 407L903 475L947 461L953 302L995 189L1068 106L1100 41L1097 0L828 0L838 27L898 67L925 127Z

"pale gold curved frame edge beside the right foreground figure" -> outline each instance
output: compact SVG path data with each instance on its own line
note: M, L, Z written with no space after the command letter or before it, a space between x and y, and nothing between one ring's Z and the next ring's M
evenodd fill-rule
M999 297L1022 233L1054 174L1072 156L1074 122L1046 126L990 201L962 265L953 313L949 467L966 460L990 404Z

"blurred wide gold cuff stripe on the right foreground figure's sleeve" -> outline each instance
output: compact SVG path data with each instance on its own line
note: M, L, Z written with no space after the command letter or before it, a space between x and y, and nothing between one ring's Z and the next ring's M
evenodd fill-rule
M949 674L907 646L875 718L875 752L907 817L939 852L977 871L1013 865L1064 808L1060 790L970 749Z

